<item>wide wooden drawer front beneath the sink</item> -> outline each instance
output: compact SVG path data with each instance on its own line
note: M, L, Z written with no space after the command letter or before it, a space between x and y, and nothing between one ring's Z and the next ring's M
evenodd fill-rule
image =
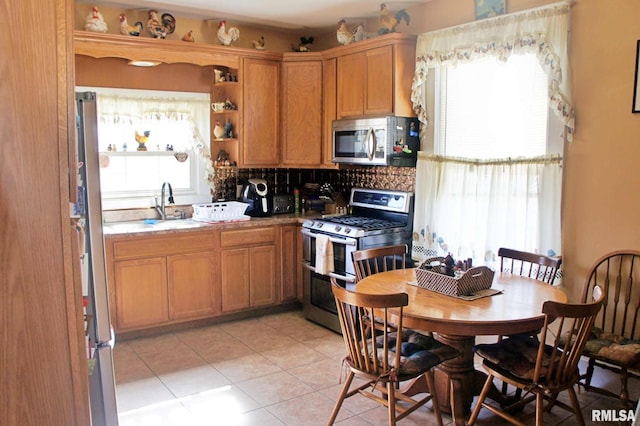
M132 259L212 250L214 248L214 233L176 233L170 237L135 237L114 241L113 257L114 259Z

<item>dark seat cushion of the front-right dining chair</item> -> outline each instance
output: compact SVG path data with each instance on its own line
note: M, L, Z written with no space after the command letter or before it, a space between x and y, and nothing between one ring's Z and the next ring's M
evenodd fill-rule
M520 379L531 380L536 368L536 357L540 341L537 337L518 336L503 339L498 343L474 346L474 352L489 361L503 373ZM541 364L540 377L544 377L551 359L551 346L546 347ZM498 367L499 366L499 367Z

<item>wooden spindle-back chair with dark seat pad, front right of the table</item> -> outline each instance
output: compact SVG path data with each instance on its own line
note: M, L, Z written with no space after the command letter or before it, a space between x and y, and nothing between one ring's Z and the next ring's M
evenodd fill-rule
M543 424L544 411L554 406L573 412L577 423L584 425L573 387L580 380L578 362L602 307L604 292L596 287L593 297L594 301L582 304L546 301L542 305L544 326L539 338L521 336L473 348L483 359L482 365L489 377L471 413L469 426L476 422L483 407L512 424L523 425L523 419L516 419L511 413L532 401L536 401L537 426ZM526 396L508 407L489 404L486 397L494 378L522 389L527 392ZM558 400L558 394L563 391L568 392L571 405Z

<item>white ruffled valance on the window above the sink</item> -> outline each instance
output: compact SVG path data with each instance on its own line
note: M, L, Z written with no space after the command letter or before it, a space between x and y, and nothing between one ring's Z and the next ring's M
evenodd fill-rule
M214 175L211 152L202 137L209 133L206 127L209 123L208 99L99 93L97 109L101 123L115 126L136 126L149 120L189 123L191 140L188 148L207 160L207 178L210 180Z

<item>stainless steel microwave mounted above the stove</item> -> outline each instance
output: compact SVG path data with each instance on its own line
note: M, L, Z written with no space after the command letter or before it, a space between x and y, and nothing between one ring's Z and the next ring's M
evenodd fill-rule
M415 167L419 122L413 117L334 120L332 161L343 164Z

